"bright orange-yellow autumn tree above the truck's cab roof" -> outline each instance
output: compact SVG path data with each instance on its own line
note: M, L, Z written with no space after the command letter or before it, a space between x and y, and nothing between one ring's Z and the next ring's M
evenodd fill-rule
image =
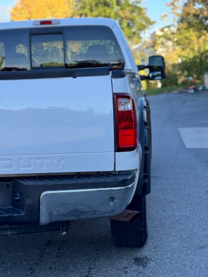
M75 0L18 0L10 12L11 20L71 17Z

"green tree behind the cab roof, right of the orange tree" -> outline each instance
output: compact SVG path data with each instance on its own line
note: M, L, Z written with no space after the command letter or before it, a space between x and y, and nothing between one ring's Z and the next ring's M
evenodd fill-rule
M147 16L140 0L79 0L79 17L109 17L118 20L130 45L141 40L141 32L154 22Z

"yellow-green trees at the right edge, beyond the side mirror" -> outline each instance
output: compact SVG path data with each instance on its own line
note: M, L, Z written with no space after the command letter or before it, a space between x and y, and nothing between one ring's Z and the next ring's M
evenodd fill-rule
M167 78L162 85L187 84L189 76L203 83L208 71L208 2L187 0L178 13L179 0L168 5L177 18L175 26L167 26L155 34L157 54L166 60Z

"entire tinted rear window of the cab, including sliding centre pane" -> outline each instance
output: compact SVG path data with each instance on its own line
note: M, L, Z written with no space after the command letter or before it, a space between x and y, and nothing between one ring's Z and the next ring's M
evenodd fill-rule
M0 71L105 67L125 62L113 31L105 26L0 31Z

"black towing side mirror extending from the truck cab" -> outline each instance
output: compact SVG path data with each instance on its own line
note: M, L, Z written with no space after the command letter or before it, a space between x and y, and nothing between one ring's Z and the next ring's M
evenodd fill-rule
M162 56L151 56L149 57L149 64L147 66L138 65L137 67L138 70L144 70L145 68L149 69L148 76L140 75L141 80L161 80L166 78L165 61Z

